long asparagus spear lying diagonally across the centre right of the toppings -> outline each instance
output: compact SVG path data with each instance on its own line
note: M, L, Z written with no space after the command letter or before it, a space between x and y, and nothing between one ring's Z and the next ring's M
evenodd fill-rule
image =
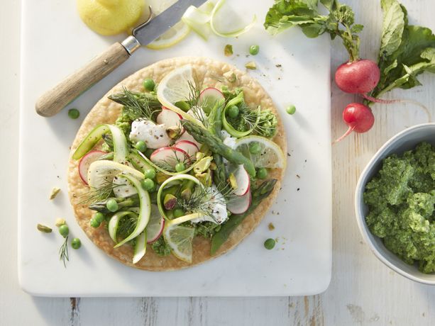
M255 176L255 167L253 162L250 161L247 157L244 157L243 154L233 150L231 147L228 147L222 142L219 137L216 137L209 130L202 128L201 126L192 123L189 120L181 120L183 127L187 130L187 133L192 135L197 142L201 142L202 144L207 144L211 151L220 154L221 156L228 159L229 162L234 164L243 164L246 169L246 172L250 174L250 176Z

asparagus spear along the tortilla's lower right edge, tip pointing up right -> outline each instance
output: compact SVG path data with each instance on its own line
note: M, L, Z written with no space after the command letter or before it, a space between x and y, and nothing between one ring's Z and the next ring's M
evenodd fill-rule
M211 255L216 254L221 245L224 245L224 242L226 242L231 232L233 232L233 230L235 230L236 227L242 223L246 216L252 213L253 210L260 205L264 198L268 197L270 193L272 193L276 183L277 179L266 180L263 182L263 184L260 184L257 189L252 191L252 201L248 210L246 210L246 212L243 214L232 215L228 222L223 224L221 229L217 231L211 238Z

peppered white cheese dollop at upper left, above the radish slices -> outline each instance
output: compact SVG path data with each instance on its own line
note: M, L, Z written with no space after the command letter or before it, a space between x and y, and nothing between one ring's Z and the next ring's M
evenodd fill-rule
M166 125L156 125L150 120L134 120L131 123L130 140L142 140L148 148L157 150L170 145L171 139L166 133Z

